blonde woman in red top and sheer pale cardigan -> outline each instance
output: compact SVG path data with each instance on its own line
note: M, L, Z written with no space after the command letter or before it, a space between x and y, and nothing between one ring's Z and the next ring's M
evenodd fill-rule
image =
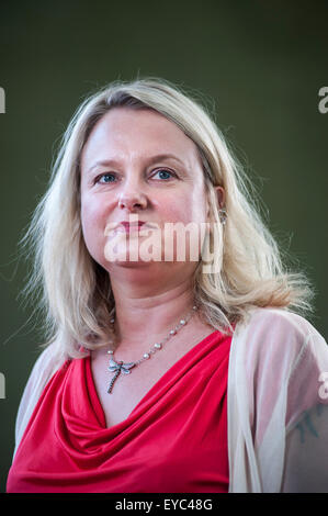
M248 198L168 81L82 103L23 240L48 346L9 492L328 491L327 346Z

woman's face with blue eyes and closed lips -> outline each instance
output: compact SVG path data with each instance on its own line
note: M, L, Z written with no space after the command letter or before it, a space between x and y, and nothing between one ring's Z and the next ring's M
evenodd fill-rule
M155 111L109 111L93 127L81 155L81 223L93 259L109 272L117 265L172 263L177 256L172 260L163 253L163 244L169 244L165 227L206 221L204 177L195 144ZM160 240L155 238L159 234ZM140 249L150 236L154 247L148 246L146 255L152 249L152 259L147 261Z

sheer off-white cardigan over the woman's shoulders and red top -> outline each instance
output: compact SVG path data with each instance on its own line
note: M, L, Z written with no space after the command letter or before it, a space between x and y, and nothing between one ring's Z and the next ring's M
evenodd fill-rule
M15 450L57 368L50 345L24 390ZM328 346L305 318L251 311L231 339L227 395L230 493L328 493Z

